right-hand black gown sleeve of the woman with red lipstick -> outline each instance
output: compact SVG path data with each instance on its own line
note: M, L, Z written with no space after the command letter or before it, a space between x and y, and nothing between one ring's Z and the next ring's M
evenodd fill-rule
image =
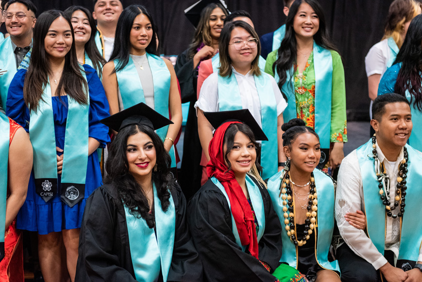
M168 281L202 281L202 262L193 245L186 219L186 198L178 184L170 189L176 210L174 247Z

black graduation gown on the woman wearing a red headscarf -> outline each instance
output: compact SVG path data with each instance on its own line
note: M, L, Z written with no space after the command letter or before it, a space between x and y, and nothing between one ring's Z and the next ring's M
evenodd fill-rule
M265 231L258 243L258 257L274 271L282 254L282 229L267 189L259 184L258 187L261 187L265 211ZM191 198L187 210L189 228L202 260L205 281L275 281L276 277L258 259L248 250L242 251L236 243L229 204L211 179Z

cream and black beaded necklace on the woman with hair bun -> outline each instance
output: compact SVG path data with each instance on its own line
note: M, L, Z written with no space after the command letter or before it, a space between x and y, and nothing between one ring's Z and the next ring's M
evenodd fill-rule
M318 200L317 200L317 191L315 187L315 179L314 173L311 172L311 180L310 180L310 194L309 194L309 201L306 212L306 219L305 219L305 230L304 233L300 236L296 233L296 224L295 224L295 214L294 210L295 207L293 205L293 196L292 196L292 188L290 187L290 173L289 173L289 166L286 165L285 173L280 178L282 179L281 184L281 191L280 195L283 199L283 211L284 211L284 224L286 224L286 231L287 235L293 241L293 243L297 246L302 246L306 244L306 240L309 240L310 235L312 234L312 230L315 228L315 223L317 222L317 210L318 210ZM279 195L279 196L280 196ZM287 213L289 211L289 213ZM288 219L287 217L290 217Z

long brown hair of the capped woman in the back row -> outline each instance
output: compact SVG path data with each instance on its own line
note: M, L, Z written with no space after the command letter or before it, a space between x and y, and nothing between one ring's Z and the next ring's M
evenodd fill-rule
M193 35L192 43L189 45L188 57L192 58L196 54L196 49L203 42L205 45L211 46L212 37L210 30L210 16L215 8L220 8L227 15L226 8L220 3L210 3L201 11L198 26Z

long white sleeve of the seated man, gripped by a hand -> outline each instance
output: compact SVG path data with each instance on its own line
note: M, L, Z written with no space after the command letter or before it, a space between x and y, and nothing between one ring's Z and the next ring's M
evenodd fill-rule
M359 209L364 211L363 197L361 170L356 150L354 150L343 159L340 165L336 191L337 225L349 247L371 263L375 269L379 269L387 263L387 259L378 251L364 230L350 225L344 217L347 212L356 212Z

